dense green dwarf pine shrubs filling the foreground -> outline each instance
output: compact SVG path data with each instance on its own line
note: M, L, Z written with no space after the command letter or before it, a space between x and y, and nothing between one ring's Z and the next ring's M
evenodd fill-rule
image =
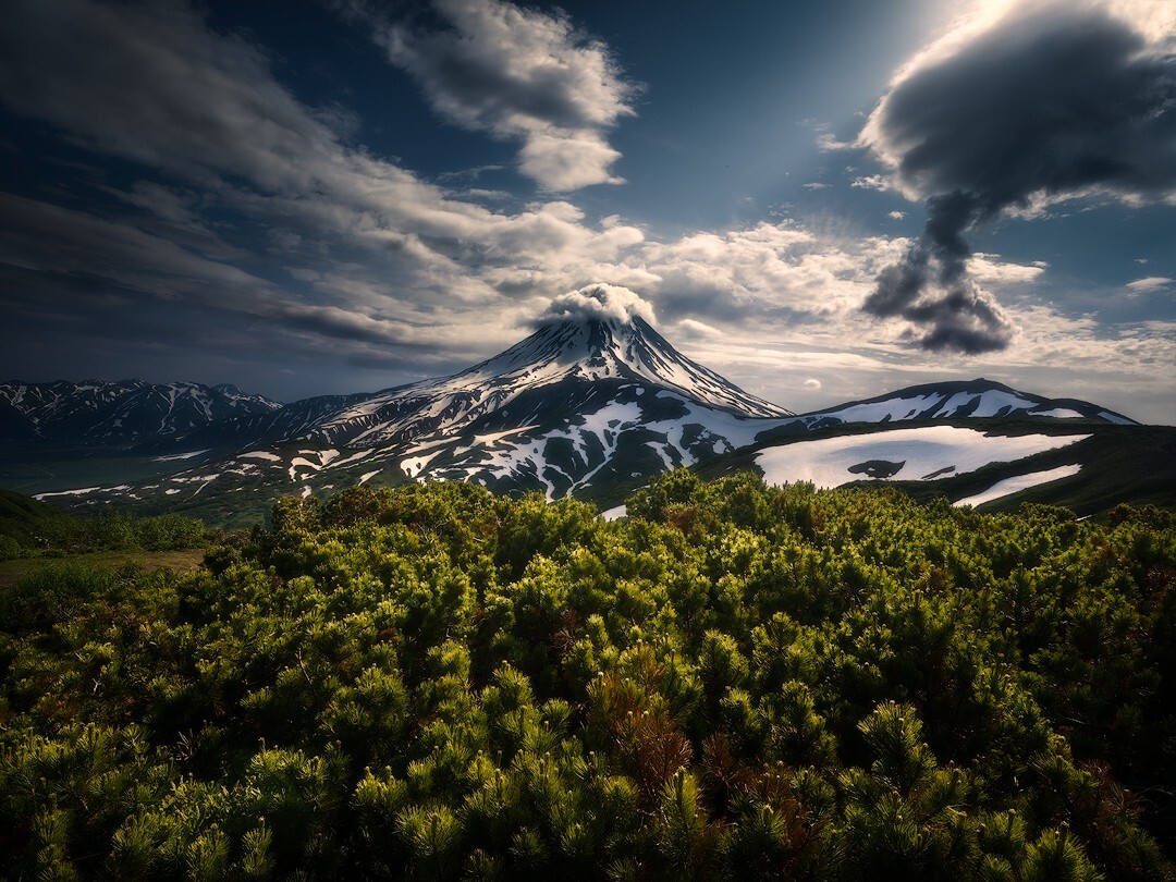
M0 595L0 868L1171 878L1176 517L677 472L281 502Z

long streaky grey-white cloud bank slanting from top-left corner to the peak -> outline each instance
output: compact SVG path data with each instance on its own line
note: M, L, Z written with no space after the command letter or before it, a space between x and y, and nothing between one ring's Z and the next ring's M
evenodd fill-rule
M365 341L400 345L425 333L439 350L453 347L454 358L481 354L468 341L485 339L488 316L510 334L553 290L646 278L636 268L600 272L643 241L641 229L619 218L589 223L560 200L490 211L480 196L348 146L346 131L336 131L346 129L346 114L300 102L276 81L262 49L213 31L187 4L13 0L8 7L21 27L0 28L0 103L163 179L103 185L118 202L101 209L85 193L93 213L65 211L60 226L44 225L35 241L24 235L24 209L8 206L28 248L18 254L11 240L9 261L41 255L40 270L53 272L55 260L122 289L191 303L211 322L216 313L240 314L260 290L290 305L269 308L275 333L285 323L340 346L353 333L356 353ZM577 113L600 119L590 108ZM534 143L535 162L561 155L544 153L541 138ZM31 205L31 216L47 216L48 203ZM232 229L245 247L228 246L218 229ZM108 250L94 247L102 236ZM187 268L173 272L181 260ZM263 279L259 261L268 265ZM132 267L128 288L115 274ZM201 283L180 286L186 273ZM64 290L62 310L69 296Z

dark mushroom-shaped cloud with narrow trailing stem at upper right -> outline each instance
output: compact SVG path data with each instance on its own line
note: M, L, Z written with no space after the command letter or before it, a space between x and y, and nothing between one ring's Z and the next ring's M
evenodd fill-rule
M1001 349L1011 323L968 278L964 234L1038 199L1176 191L1176 60L1122 20L1050 6L1005 20L886 95L862 142L928 221L864 309L928 328L929 349Z

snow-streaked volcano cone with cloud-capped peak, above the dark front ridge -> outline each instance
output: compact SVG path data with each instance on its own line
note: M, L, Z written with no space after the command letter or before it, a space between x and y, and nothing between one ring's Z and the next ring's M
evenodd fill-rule
M670 393L724 419L793 415L680 353L626 295L637 300L610 286L557 298L530 336L450 376L368 395L307 399L274 414L211 426L189 440L202 447L299 440L370 448L436 433L555 426L609 401L635 402L647 392Z

